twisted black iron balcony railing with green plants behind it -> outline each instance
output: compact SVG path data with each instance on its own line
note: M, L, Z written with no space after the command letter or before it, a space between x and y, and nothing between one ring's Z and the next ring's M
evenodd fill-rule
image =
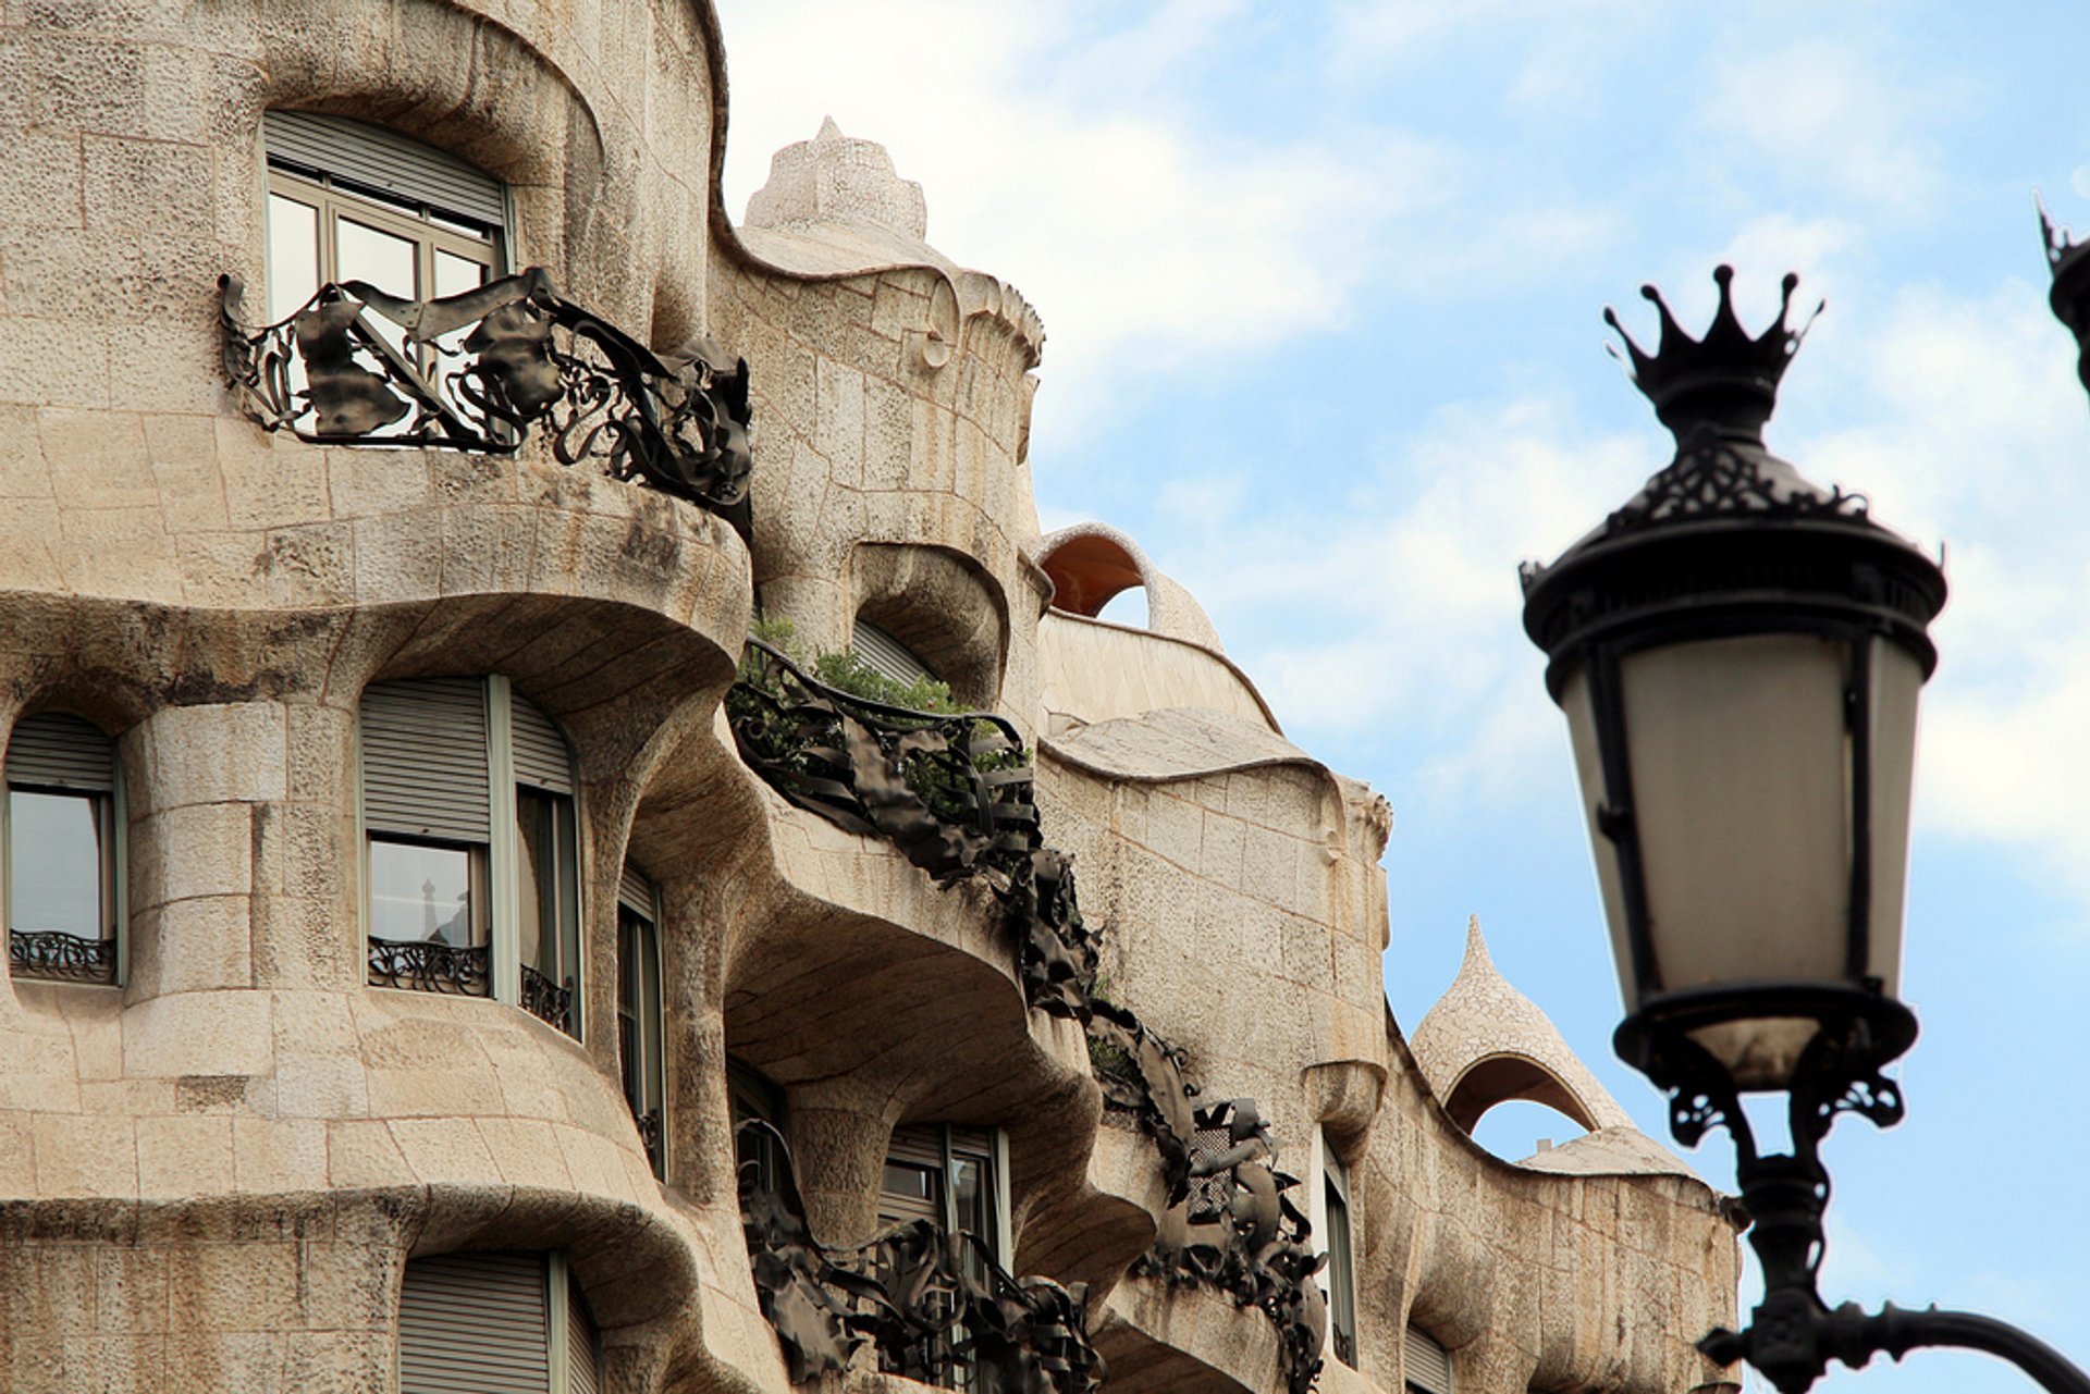
M1026 1001L1087 1016L1095 936L1068 857L1043 844L1030 757L1009 721L859 698L761 640L748 640L725 713L740 757L794 805L888 838L943 884L984 878L1007 909Z

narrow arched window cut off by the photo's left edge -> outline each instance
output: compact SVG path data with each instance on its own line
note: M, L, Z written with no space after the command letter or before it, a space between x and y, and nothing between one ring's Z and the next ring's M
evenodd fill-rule
M6 744L8 972L117 982L117 752L69 713L23 717Z

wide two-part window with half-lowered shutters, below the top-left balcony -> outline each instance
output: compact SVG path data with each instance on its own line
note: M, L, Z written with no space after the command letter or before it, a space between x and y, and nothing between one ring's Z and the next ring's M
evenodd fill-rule
M579 1037L573 754L506 677L370 683L370 982L495 997Z

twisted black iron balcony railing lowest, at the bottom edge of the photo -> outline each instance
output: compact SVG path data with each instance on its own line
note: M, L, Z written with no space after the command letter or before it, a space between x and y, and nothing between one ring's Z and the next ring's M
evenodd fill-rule
M853 1250L828 1250L805 1221L790 1149L767 1122L775 1158L765 1185L740 1168L740 1218L754 1296L777 1331L792 1384L849 1369L869 1346L880 1369L924 1384L963 1377L972 1394L1089 1394L1104 1356L1089 1344L1081 1283L1012 1277L970 1233L911 1221Z

